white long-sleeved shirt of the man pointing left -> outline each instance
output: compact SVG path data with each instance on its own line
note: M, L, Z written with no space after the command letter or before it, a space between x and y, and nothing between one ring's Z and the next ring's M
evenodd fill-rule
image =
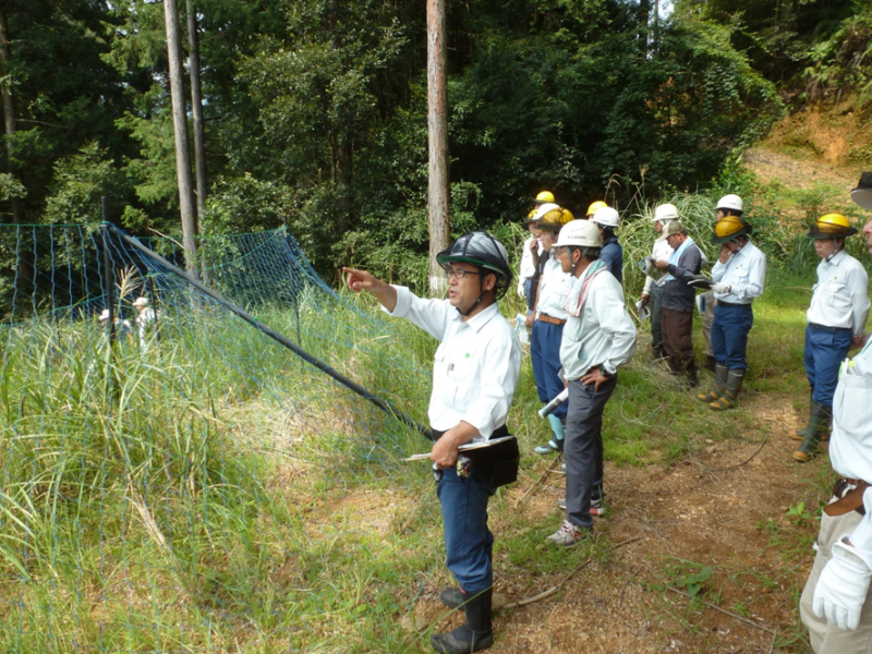
M447 432L461 421L487 439L506 424L521 373L521 343L496 303L463 322L448 300L423 300L397 289L389 315L405 318L441 341L433 362L429 424ZM384 307L383 307L384 308Z

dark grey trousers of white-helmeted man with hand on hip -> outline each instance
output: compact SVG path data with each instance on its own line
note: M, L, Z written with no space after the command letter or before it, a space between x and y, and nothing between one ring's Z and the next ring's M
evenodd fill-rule
M600 385L585 386L580 379L569 383L569 412L566 417L566 512L567 520L592 528L591 499L603 493L603 411L618 375Z

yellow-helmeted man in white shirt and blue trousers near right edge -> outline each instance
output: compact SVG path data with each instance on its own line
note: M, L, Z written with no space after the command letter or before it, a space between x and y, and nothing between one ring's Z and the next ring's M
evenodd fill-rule
M865 340L869 276L860 262L845 252L845 239L856 233L845 216L827 214L815 220L807 234L814 239L821 263L806 314L806 376L811 386L811 410L806 428L792 434L802 440L794 459L803 463L815 455L829 429L839 365L852 344L861 346Z

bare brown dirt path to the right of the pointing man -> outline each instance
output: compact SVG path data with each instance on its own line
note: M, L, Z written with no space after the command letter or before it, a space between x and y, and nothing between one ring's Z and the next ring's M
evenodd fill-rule
M803 499L818 506L816 479L826 458L806 467L790 460L788 428L799 416L788 398L755 395L743 405L753 432L702 444L700 455L674 468L607 464L611 513L597 521L597 531L613 545L626 545L592 560L556 595L499 614L491 651L808 652L796 602L811 567L816 523L796 524L786 511ZM519 484L512 500L526 491ZM561 494L562 477L550 476L519 510L541 523ZM699 597L732 616L675 592L701 566L713 573ZM562 576L542 579L537 592ZM496 591L517 602L529 585L526 574L498 573ZM426 589L416 607L428 621L444 613L438 590L435 583ZM451 616L439 628L459 621ZM790 644L796 637L801 640Z

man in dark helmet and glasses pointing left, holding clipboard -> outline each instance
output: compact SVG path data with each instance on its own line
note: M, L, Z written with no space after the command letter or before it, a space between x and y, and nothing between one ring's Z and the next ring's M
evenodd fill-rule
M448 300L424 300L364 270L344 271L351 290L373 293L387 313L441 341L428 411L436 437L431 459L439 471L436 493L446 562L460 589L449 589L440 598L451 608L462 606L467 621L451 632L433 634L431 642L437 652L460 654L494 642L494 535L487 529L487 501L498 486L517 479L519 453L513 437L460 459L458 448L470 440L508 436L506 417L518 385L521 346L497 305L511 284L502 244L485 231L470 232L436 261L448 275Z

